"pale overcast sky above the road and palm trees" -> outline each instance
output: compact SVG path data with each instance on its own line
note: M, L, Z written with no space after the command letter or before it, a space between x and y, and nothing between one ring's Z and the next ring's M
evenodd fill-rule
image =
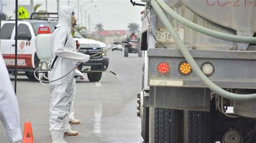
M43 4L39 10L45 10L46 0L33 0L34 5ZM48 11L57 12L57 0L47 0L48 1ZM91 0L80 0L79 5L83 5ZM140 11L143 11L143 6L132 6L130 0L93 0L94 2L89 2L82 6L82 16L83 24L85 24L85 11L90 13L94 23L102 22L105 30L127 30L127 25L129 23L140 22ZM140 0L135 0L137 3L141 3ZM15 0L3 0L3 12L7 13L8 16L14 16L15 11ZM30 0L19 0L19 5L29 5ZM60 5L68 5L68 0L60 0ZM93 6L97 5L97 8ZM70 0L70 6L75 8L77 15L77 0ZM79 8L80 9L80 8ZM97 12L99 10L99 12ZM79 14L80 16L80 14ZM95 17L95 18L94 18ZM79 18L79 23L81 22ZM86 20L87 21L87 20Z

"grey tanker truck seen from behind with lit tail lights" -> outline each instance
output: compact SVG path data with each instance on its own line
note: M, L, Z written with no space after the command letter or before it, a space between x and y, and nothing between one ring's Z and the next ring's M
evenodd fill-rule
M149 142L256 142L256 1L142 0Z

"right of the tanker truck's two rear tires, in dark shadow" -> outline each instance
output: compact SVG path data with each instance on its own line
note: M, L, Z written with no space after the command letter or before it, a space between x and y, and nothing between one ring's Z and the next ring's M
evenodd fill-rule
M187 142L211 142L210 112L187 112Z

